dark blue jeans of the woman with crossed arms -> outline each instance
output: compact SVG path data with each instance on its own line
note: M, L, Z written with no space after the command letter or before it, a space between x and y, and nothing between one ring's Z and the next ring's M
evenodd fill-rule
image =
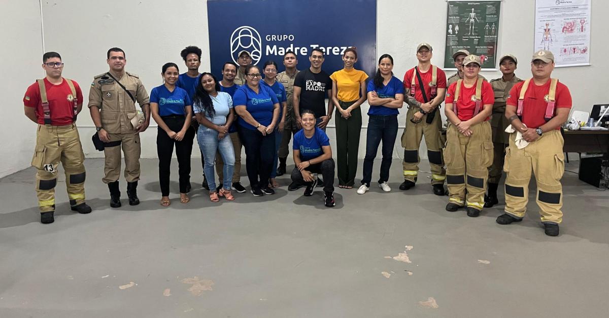
M372 179L372 166L375 162L376 151L382 140L381 177L379 184L389 180L389 168L393 156L393 145L398 135L398 116L370 115L368 131L366 133L366 156L364 157L364 178L362 184L370 187Z

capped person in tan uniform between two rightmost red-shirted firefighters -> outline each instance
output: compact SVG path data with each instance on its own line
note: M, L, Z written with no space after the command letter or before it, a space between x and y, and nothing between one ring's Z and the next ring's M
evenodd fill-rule
M503 173L505 148L510 145L510 135L505 133L505 128L510 125L510 122L504 116L505 101L507 101L507 95L510 94L512 86L519 81L523 81L514 74L516 64L518 64L518 60L516 60L514 55L503 55L499 58L499 70L503 76L490 81L495 92L493 117L491 119L494 156L493 165L488 170L488 194L484 196L484 207L493 207L499 203L497 199L497 187Z

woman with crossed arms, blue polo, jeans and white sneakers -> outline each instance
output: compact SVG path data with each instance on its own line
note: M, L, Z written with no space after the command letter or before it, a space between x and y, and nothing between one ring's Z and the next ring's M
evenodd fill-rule
M366 156L364 157L364 178L357 193L363 195L370 190L372 166L376 151L382 141L381 176L378 184L384 192L390 192L387 184L389 168L393 155L393 145L398 134L398 108L404 103L404 86L402 81L393 76L393 58L389 54L381 55L379 68L373 80L368 82L368 131L366 134Z

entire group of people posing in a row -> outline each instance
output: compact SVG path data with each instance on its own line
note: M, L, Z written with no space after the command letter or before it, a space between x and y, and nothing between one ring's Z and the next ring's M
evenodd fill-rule
M178 161L180 202L188 203L191 191L191 153L194 137L202 154L203 187L209 199L232 201L232 191L246 191L241 184L241 150L245 148L250 192L272 195L276 176L286 173L288 145L292 139L294 170L288 190L306 187L311 196L323 186L324 203L335 206L334 176L340 188L353 188L362 129L361 105L368 102L368 127L363 178L357 193L371 187L373 162L382 143L378 185L390 192L389 170L398 133L399 109L408 106L404 148L404 182L400 190L416 185L419 148L425 139L431 166L432 192L444 196L446 210L465 207L468 216L478 216L484 207L498 204L497 190L502 171L505 180L505 213L499 224L523 219L528 201L531 172L537 179L537 202L547 235L558 235L562 219L564 172L560 126L571 108L568 88L551 78L552 52L540 50L531 60L532 78L515 76L518 60L506 54L499 59L502 77L488 82L479 75L481 58L466 50L452 55L457 73L431 64L432 47L417 46L417 66L403 80L393 74L393 58L379 57L373 78L355 68L357 50L343 52L343 69L328 75L322 69L324 52L313 49L310 66L297 69L294 52L283 57L285 71L267 61L252 64L247 50L238 63L227 62L222 78L199 72L202 51L188 46L181 51L188 71L180 74L175 63L161 67L163 85L147 94L138 75L125 71L125 52L113 47L107 52L109 71L94 77L88 107L96 136L105 153L104 181L110 190L110 206L121 206L119 175L121 149L125 157L125 179L130 205L139 204L139 133L150 117L157 122L157 153L162 206L169 206L171 157ZM41 222L54 221L54 187L57 166L62 162L71 209L89 213L85 203L83 152L75 125L82 109L82 91L76 81L62 77L63 62L56 52L43 55L46 78L31 85L24 97L26 116L38 123L37 145L32 165L38 169L36 190ZM326 106L326 97L328 104ZM141 111L135 107L138 103ZM440 105L445 103L448 125L444 128ZM326 126L334 115L336 164ZM216 187L214 166L219 177ZM446 168L445 168L446 167ZM322 178L320 178L320 176Z

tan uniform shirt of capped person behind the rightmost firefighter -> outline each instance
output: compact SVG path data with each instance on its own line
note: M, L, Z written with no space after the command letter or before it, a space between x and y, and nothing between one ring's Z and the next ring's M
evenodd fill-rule
M514 76L510 81L504 81L503 77L491 80L495 92L495 103L493 104L493 115L491 118L491 127L493 131L493 142L510 143L509 134L505 133L505 128L510 125L510 122L505 118L505 102L510 94L510 90L514 84L523 81Z

